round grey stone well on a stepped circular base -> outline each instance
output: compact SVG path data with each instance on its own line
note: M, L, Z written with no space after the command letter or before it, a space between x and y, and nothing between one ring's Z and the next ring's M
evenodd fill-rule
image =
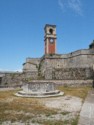
M55 89L52 82L29 82L22 86L22 91L16 93L20 97L54 97L63 95L63 92Z

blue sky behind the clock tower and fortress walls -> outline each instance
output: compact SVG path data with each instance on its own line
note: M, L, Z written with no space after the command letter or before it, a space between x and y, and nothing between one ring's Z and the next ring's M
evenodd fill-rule
M56 25L57 53L88 49L94 39L94 0L0 0L0 71L21 71L44 55L44 26Z

